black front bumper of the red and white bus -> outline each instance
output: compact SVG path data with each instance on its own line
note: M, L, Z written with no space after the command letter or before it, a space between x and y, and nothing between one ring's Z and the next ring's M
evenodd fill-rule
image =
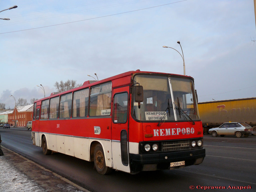
M203 162L204 157L204 148L164 153L130 154L130 166L132 173L176 169L189 165L198 165ZM185 165L170 167L170 163L180 161L185 161Z

